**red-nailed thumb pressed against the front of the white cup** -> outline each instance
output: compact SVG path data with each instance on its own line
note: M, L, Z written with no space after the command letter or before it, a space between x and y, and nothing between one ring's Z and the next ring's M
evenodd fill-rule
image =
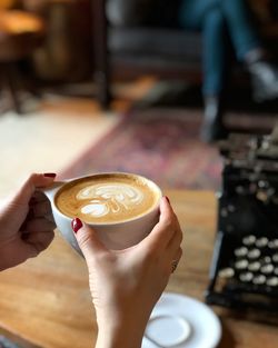
M71 221L71 227L86 260L96 257L101 251L107 250L99 240L96 230L89 225L82 222L79 218L75 218Z

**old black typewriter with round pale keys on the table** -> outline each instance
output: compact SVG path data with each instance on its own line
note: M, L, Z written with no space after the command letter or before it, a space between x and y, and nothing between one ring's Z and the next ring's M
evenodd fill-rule
M206 301L278 314L278 129L221 143L222 188Z

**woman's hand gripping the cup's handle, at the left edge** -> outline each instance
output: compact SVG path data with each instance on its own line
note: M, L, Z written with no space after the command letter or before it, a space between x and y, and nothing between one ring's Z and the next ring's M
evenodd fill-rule
M0 270L36 257L53 239L51 207L37 189L50 186L54 173L33 173L0 209Z

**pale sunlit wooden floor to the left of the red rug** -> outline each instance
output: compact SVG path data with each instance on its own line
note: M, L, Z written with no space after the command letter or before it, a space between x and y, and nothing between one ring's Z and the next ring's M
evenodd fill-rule
M93 98L46 93L42 101L26 101L26 115L0 115L0 200L32 171L59 172L119 120L130 102L140 98L153 79L116 83L110 112ZM29 102L29 105L28 105Z

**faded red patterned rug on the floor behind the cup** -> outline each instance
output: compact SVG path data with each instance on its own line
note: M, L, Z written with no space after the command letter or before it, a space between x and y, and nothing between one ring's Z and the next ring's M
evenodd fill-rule
M201 110L133 110L60 178L128 171L162 188L217 190L222 160L215 147L199 141L200 122Z

